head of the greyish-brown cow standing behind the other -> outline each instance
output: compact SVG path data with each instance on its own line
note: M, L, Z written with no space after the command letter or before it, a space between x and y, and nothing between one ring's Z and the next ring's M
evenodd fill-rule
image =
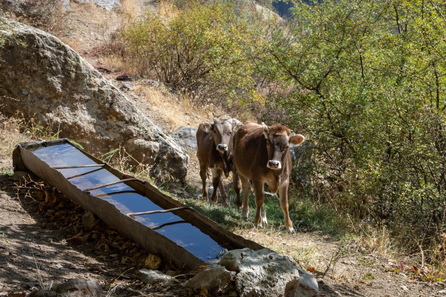
M214 123L207 124L205 130L208 133L214 133L215 146L218 151L223 153L228 150L231 136L241 125L242 123L236 119L227 119L224 121L214 119Z

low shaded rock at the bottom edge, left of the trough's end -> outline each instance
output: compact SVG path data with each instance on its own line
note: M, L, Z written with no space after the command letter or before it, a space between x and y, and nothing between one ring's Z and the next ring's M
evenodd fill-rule
M27 295L29 297L96 297L101 296L102 288L99 282L83 279L69 279L57 284L51 291L38 290Z

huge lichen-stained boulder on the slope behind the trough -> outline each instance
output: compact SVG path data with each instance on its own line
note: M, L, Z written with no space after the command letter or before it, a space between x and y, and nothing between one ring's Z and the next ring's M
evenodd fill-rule
M188 155L74 50L39 29L0 18L0 105L90 152L124 147L154 177L183 180Z

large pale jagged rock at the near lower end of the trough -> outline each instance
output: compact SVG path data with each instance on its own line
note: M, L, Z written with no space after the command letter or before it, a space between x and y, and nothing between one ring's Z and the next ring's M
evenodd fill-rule
M220 265L237 273L235 285L241 297L318 295L318 283L310 273L298 268L290 256L269 248L230 250Z

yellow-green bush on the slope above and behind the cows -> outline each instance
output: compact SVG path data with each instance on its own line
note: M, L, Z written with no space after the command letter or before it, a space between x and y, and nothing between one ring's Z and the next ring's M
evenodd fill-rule
M122 32L136 74L206 99L256 99L252 62L240 46L250 25L227 4L189 2L167 19L148 14Z

